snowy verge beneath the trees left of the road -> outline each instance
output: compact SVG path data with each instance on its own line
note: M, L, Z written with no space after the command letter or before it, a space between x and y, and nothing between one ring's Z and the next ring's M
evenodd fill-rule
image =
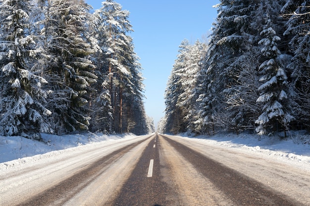
M40 155L50 153L52 151L58 152L53 152L46 156L59 155L59 153L67 153L72 152L73 150L79 150L81 149L79 146L82 145L91 145L99 142L105 142L108 144L114 141L122 141L134 137L136 137L134 134L105 135L85 133L63 136L42 134L42 138L46 142L44 143L20 136L0 136L0 163L26 157L40 159L43 158L43 156ZM29 159L31 158L28 158L28 160Z

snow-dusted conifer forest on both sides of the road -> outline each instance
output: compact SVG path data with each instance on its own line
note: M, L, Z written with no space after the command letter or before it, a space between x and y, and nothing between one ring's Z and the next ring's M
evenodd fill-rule
M157 130L309 133L310 0L214 9L207 40L179 46ZM128 18L114 0L95 11L84 0L0 0L0 135L155 131Z

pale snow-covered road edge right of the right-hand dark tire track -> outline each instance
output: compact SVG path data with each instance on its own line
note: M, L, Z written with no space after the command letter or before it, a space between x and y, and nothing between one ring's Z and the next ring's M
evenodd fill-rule
M201 139L177 136L169 136L169 138L222 165L232 168L240 174L261 183L266 188L276 191L278 194L283 194L291 200L310 206L310 164L292 164L292 162L282 161L277 158L270 159L266 154L258 155L258 153L249 153L246 150L223 148L220 145L217 146ZM209 182L206 184L210 185ZM214 188L216 185L212 185L212 187ZM233 190L233 188L231 189ZM211 195L216 195L216 193L211 193ZM223 197L218 193L217 196Z

